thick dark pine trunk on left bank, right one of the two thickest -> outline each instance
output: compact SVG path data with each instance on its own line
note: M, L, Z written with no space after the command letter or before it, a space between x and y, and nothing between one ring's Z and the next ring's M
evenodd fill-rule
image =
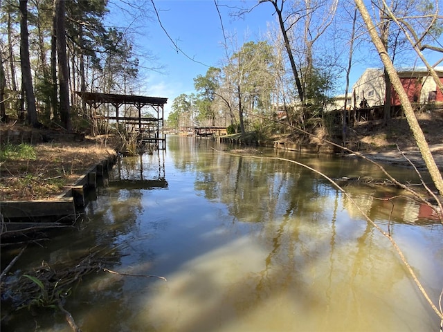
M62 126L71 131L69 110L69 68L66 55L65 0L55 0L55 21L57 37L58 79L60 84L60 119Z

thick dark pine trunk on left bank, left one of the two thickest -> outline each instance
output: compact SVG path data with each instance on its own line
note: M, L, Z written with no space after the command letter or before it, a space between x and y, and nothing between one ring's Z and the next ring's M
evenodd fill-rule
M30 71L29 36L28 36L28 0L20 0L20 62L21 82L26 96L27 120L33 127L39 127L37 109L35 108L35 95L33 89L33 76Z

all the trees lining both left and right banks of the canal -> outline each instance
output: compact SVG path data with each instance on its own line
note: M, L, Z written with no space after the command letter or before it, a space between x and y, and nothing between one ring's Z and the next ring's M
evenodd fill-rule
M126 4L143 12L147 4L154 7L151 2ZM359 2L260 0L233 9L232 15L247 20L249 12L264 7L275 24L255 40L239 41L224 31L220 66L195 77L196 93L174 100L168 125L226 125L244 133L271 131L274 122L264 119L284 118L303 129L324 127L325 110L332 107L341 79L346 78L347 102L350 71L361 61L358 53L374 50ZM34 127L55 123L71 130L72 121L78 127L91 116L75 92L130 93L134 88L141 68L132 35L128 27L106 26L107 0L3 0L0 6L2 120L12 113ZM217 10L220 6L215 1ZM372 0L363 6L370 8L392 63L418 58L442 88L425 53L442 52L438 1ZM377 63L368 59L368 51L364 57ZM391 82L386 69L385 82L388 119Z

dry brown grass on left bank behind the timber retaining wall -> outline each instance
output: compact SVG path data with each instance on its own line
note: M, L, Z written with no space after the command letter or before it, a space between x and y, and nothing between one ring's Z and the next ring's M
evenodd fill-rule
M35 158L0 162L0 200L54 199L91 167L115 154L100 142L57 142L33 145Z

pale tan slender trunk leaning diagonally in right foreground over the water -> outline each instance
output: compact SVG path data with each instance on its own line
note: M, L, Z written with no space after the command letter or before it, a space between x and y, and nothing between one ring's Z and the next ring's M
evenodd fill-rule
M392 86L394 86L395 91L399 95L399 100L401 105L403 106L404 113L406 116L406 120L408 120L408 124L410 130L413 132L415 141L417 142L417 146L419 147L420 152L422 153L422 157L424 162L426 163L426 167L428 168L429 174L431 174L431 178L437 187L440 195L443 195L443 178L440 173L437 165L435 164L435 160L433 155L431 154L431 150L428 147L428 142L426 142L426 138L424 137L424 133L422 128L420 127L417 118L415 118L415 113L412 105L410 104L408 95L406 91L404 91L404 87L401 84L397 71L394 68L394 64L388 55L388 52L383 45L379 35L377 35L377 30L372 23L372 19L369 15L368 9L365 7L363 0L354 0L357 8L359 8L359 12L363 21L365 22L366 27L368 28L368 33L374 43L374 46L377 48L377 51L380 55L381 61L383 62L386 71L390 77L390 82Z

